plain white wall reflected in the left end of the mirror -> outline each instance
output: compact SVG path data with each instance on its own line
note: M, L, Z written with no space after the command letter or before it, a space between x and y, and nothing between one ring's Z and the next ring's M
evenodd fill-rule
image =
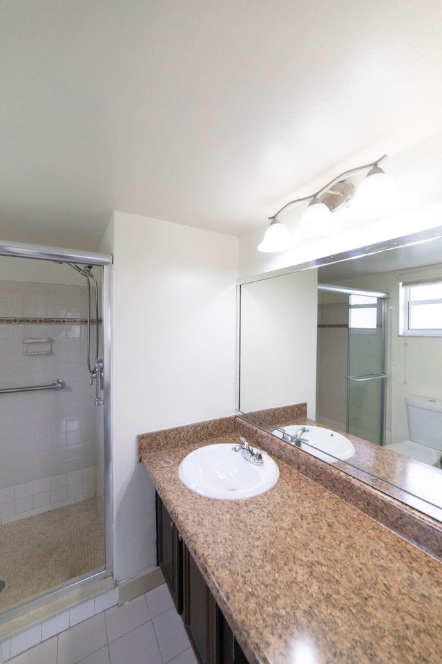
M317 270L241 286L240 409L307 401L315 418Z

